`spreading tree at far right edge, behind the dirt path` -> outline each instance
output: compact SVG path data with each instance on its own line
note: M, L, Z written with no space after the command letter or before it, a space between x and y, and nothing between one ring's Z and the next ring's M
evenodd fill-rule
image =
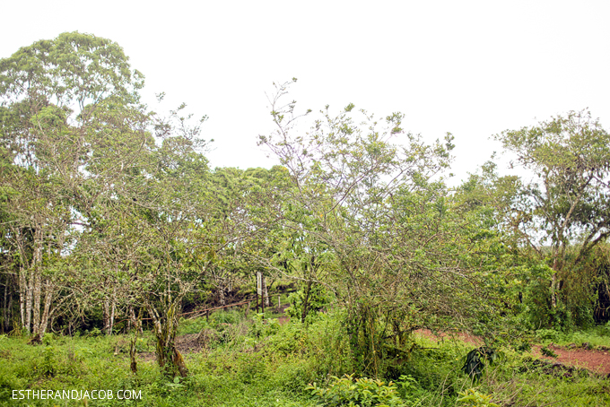
M511 230L548 258L551 307L562 273L571 273L610 234L610 134L587 111L495 136L534 178L512 204ZM575 255L568 256L574 247Z

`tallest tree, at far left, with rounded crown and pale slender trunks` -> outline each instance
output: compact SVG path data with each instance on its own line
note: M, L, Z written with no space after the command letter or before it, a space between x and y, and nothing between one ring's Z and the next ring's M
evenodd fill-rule
M127 61L116 43L78 32L0 60L0 139L13 163L3 184L14 192L5 238L18 263L22 326L34 340L67 298L61 279L49 273L79 221L75 198L91 185L88 162L103 139L91 138L100 135L91 131L91 119L109 100L138 102L143 77Z

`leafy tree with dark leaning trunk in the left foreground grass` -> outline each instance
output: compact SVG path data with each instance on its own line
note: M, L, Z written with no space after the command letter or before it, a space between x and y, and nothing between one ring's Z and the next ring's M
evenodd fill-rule
M129 137L129 116L96 120L96 132L106 134L114 154L100 151L91 186L99 194L87 206L75 248L82 258L92 258L96 275L90 284L103 281L103 293L92 288L93 293L110 295L113 307L118 301L151 316L157 361L168 376L187 375L175 344L182 299L231 241L227 221L214 218L217 206L202 153L206 142L199 137L205 118L191 126L183 108L172 111L169 120L144 116L139 143ZM148 143L152 134L159 143Z

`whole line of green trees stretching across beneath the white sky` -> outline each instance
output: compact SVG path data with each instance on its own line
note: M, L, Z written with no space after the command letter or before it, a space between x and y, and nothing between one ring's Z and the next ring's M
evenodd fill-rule
M257 272L299 284L303 322L332 298L373 373L421 327L610 319L610 136L588 112L495 136L531 179L491 160L450 188L451 134L425 143L402 114L353 104L298 114L292 82L275 84L275 130L258 139L279 165L211 169L206 117L151 110L109 39L64 33L0 60L4 331L39 342L146 315L159 364L185 376L185 300Z

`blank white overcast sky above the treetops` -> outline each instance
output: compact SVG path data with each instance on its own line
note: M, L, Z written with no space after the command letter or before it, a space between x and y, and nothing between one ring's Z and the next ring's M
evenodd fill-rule
M265 92L297 77L302 109L405 113L405 129L456 136L454 182L494 150L488 137L589 108L610 128L607 1L5 2L0 57L78 30L118 42L146 76L210 119L212 165L270 167Z

